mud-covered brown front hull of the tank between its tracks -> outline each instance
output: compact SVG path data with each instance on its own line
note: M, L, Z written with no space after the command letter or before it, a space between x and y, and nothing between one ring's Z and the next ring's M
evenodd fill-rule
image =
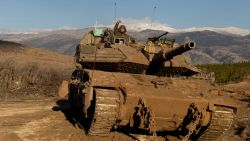
M119 94L119 110L114 124L118 127L129 127L149 130L143 124L136 126L134 116L136 109L143 100L144 108L153 112L156 132L171 132L179 130L188 114L190 105L194 104L202 114L200 126L207 127L212 121L215 106L227 107L235 110L233 105L211 99L210 89L213 86L206 80L183 78L164 78L145 75L131 75L127 73L111 73L90 71L92 75L91 87L112 89ZM160 80L158 80L160 79ZM155 84L160 81L160 84ZM92 99L93 100L93 99ZM83 104L84 105L84 104ZM232 113L233 114L233 113ZM144 117L142 117L144 118Z

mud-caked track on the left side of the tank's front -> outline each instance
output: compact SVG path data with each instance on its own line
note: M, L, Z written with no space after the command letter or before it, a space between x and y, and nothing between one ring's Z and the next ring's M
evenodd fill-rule
M119 91L95 89L95 110L88 130L90 136L108 136L119 113Z

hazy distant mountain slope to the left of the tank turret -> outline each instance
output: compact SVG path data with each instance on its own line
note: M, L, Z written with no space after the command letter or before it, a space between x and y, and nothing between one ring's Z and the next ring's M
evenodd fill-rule
M56 30L35 34L0 34L0 39L47 48L59 53L73 55L75 46L83 34L91 28Z

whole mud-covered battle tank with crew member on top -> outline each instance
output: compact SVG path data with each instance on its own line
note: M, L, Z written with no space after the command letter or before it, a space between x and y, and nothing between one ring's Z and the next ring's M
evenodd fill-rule
M205 79L185 52L196 47L163 38L145 44L114 29L94 28L76 47L76 69L68 87L71 108L89 125L90 136L118 131L129 135L178 136L181 140L216 140L228 130L237 108ZM62 86L63 88L63 86Z

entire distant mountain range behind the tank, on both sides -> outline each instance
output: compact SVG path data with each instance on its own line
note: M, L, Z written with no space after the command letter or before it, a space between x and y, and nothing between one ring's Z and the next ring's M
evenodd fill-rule
M0 39L39 46L63 54L73 55L75 46L83 34L90 30L91 28L56 30L37 34L0 34ZM143 31L130 31L128 34L141 42L145 42L148 37L158 36L162 33L164 31L147 29ZM165 37L174 38L178 43L183 43L186 39L195 41L197 48L187 53L191 56L195 64L229 63L250 60L250 34L242 36L227 32L204 30L169 33Z

